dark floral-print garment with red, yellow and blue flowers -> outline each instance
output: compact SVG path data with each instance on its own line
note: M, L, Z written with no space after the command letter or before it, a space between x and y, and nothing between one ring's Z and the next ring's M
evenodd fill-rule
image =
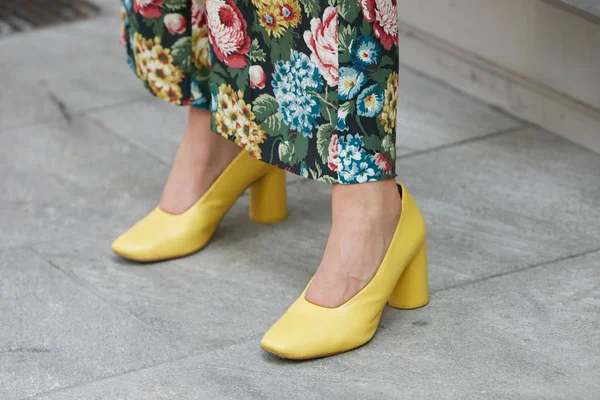
M393 178L396 0L122 0L128 62L252 156L329 183Z

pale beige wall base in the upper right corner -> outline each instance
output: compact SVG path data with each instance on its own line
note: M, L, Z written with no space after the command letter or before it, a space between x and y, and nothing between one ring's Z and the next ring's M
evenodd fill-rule
M398 0L402 63L600 152L600 0Z

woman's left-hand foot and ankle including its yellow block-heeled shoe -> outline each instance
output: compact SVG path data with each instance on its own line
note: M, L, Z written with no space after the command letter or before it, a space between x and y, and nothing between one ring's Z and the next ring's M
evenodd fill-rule
M190 110L160 205L111 247L141 262L195 253L208 244L223 216L248 188L250 218L273 223L286 217L285 172L215 135L209 130L208 114Z

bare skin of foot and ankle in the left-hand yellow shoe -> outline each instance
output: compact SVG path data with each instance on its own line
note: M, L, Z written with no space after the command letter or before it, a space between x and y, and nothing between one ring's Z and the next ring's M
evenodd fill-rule
M210 112L190 107L188 125L160 199L160 208L181 214L196 203L240 152L210 130Z

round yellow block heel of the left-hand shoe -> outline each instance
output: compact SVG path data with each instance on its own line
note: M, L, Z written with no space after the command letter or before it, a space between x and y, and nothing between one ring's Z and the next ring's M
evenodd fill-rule
M285 171L273 167L250 186L250 219L272 224L287 218Z

